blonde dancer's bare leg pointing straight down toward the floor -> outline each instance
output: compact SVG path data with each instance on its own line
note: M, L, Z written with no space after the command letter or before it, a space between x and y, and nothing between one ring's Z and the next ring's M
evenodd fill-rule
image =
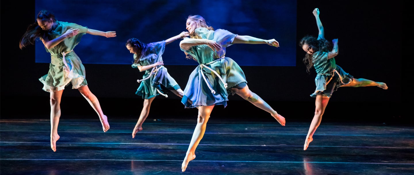
M195 158L195 149L197 148L200 140L204 136L206 131L207 121L210 117L211 111L214 106L199 106L198 107L198 118L197 125L195 126L193 137L191 137L190 145L188 146L187 153L185 154L184 161L181 165L181 171L185 171L188 166L188 162L192 161Z

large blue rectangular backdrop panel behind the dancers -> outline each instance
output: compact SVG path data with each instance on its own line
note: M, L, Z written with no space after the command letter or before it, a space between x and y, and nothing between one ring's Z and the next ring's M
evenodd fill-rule
M227 57L242 66L296 66L296 0L36 0L36 14L47 9L58 21L100 31L115 38L84 35L74 51L84 64L132 64L129 38L144 43L166 40L185 29L188 15L199 14L215 29L238 35L276 39L280 47L236 44ZM195 65L185 59L180 40L166 45L166 65ZM50 63L43 44L36 42L36 62Z

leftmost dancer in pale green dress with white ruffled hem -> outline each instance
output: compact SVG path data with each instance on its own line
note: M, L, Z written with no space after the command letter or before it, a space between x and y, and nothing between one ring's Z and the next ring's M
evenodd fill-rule
M60 118L60 101L65 86L72 83L72 89L77 89L98 114L103 132L109 130L108 119L103 114L98 99L88 88L85 79L85 68L73 49L84 34L99 35L106 38L116 37L115 31L97 31L74 23L62 22L47 10L37 14L36 22L31 24L20 39L19 47L34 45L37 38L45 45L46 52L51 53L51 64L48 74L39 78L43 90L50 92L51 105L51 148L56 151L56 141L59 140L58 124Z

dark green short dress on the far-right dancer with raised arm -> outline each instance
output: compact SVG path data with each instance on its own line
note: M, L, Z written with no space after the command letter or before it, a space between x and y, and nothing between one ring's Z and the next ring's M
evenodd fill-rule
M313 54L313 67L316 75L316 89L310 97L322 94L331 97L341 85L346 85L354 80L354 77L345 72L335 62L335 58L328 59L328 52L318 51Z

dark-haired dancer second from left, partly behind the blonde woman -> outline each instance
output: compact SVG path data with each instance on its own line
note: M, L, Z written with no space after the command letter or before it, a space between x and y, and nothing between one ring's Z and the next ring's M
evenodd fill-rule
M165 45L188 36L188 32L181 32L180 34L168 38L167 40L144 44L137 38L130 38L127 40L125 46L134 54L133 68L138 68L140 72L145 71L141 80L137 80L140 84L136 95L144 99L144 106L140 114L140 118L132 131L132 138L135 138L137 132L142 130L142 123L149 114L149 108L152 101L158 95L168 97L166 92L171 91L178 97L183 97L184 92L177 84L176 80L168 74L167 68L164 67L162 54L164 53Z

